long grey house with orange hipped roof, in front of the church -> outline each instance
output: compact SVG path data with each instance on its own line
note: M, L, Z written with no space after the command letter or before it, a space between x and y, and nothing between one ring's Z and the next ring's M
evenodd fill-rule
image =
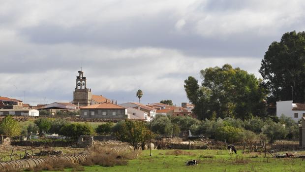
M81 118L126 119L127 109L113 103L99 103L80 108Z

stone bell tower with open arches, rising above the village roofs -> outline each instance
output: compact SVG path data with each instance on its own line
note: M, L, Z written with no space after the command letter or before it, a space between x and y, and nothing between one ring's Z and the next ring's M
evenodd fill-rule
M78 71L79 76L76 76L76 87L73 92L73 104L78 106L88 106L91 104L91 89L87 88L86 77L83 71Z

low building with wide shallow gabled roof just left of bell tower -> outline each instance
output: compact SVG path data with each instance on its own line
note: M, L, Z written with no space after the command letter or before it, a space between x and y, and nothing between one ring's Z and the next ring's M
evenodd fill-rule
M75 111L77 109L77 105L74 105L72 103L50 103L44 106L41 106L38 108L38 110L47 110L49 111L52 115L56 115L58 111Z

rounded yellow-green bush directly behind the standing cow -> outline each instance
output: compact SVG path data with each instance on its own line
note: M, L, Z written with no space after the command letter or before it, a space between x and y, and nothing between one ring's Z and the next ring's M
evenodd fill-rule
M235 143L241 141L243 130L232 126L223 126L216 130L215 139L228 143Z

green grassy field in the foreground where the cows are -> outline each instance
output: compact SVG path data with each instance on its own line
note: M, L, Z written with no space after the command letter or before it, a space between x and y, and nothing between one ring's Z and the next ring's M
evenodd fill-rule
M305 172L305 161L293 158L264 158L264 154L228 155L227 150L185 150L190 155L166 155L173 150L142 151L126 166L85 167L86 172ZM200 155L213 158L200 158ZM185 166L187 160L197 159L198 166ZM71 169L65 169L70 172Z

